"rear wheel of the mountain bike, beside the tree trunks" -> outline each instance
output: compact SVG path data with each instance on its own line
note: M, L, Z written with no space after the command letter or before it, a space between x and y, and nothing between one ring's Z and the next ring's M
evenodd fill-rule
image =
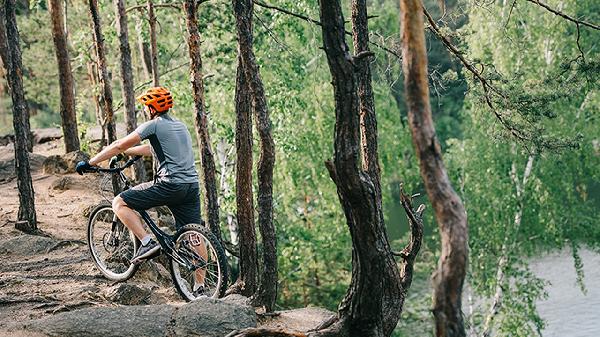
M170 259L171 278L181 297L193 301L203 296L223 296L227 257L217 238L203 226L189 224L177 231L174 242L174 254L186 262Z

